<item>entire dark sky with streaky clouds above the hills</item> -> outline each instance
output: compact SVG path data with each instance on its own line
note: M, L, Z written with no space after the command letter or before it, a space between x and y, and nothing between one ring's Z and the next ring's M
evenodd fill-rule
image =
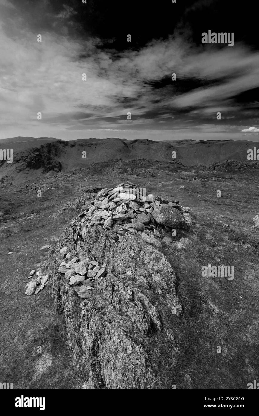
M227 3L0 0L0 139L258 140L258 17Z

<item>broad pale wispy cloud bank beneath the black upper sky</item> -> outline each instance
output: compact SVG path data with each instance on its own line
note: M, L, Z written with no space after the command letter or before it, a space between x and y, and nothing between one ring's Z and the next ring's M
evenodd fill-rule
M65 4L51 18L46 12L49 26L38 29L42 42L37 42L35 14L29 17L25 10L20 15L14 4L0 0L3 135L12 131L14 123L30 136L31 131L42 129L155 131L181 125L207 132L202 126L208 123L210 131L230 131L232 126L223 120L234 120L242 109L235 97L259 87L259 53L242 44L220 50L202 48L177 33L152 40L139 50L118 52L102 47L98 37L71 36L68 28L74 25L71 17L76 11ZM199 1L192 7L203 5ZM37 7L40 15L42 5ZM87 81L82 81L83 73ZM171 80L172 73L176 81ZM256 116L258 105L247 108L249 119ZM217 111L222 112L220 126L215 125ZM42 120L37 120L38 112ZM242 122L250 123L256 121Z

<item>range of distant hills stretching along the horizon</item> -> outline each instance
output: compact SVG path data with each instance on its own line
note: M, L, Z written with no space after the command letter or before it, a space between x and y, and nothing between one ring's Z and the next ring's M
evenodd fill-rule
M235 160L247 162L247 150L259 148L251 141L153 141L108 138L64 141L53 137L13 137L0 140L0 149L13 149L13 163L0 161L0 178L35 178L58 171L68 172L89 166L91 163L109 162L112 159L131 161L143 158L153 161L176 162L183 165L210 165ZM86 152L86 158L82 158Z

